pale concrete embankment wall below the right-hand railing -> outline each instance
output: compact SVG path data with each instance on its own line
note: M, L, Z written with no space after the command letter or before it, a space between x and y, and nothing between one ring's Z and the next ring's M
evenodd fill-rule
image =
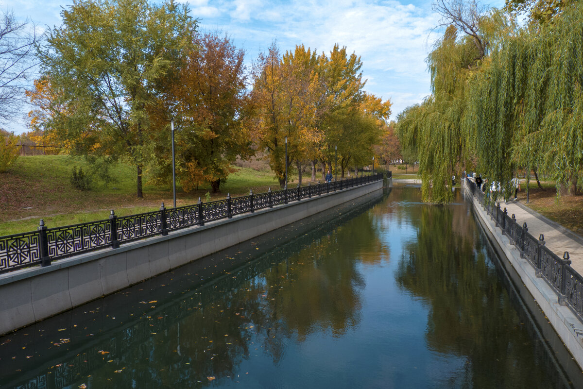
M559 296L543 278L537 277L535 268L528 260L521 258L520 250L512 245L508 236L503 235L496 222L484 210L476 197L464 186L465 196L472 201L477 219L493 243L494 249L501 259L506 260L514 268L532 298L545 313L551 326L561 338L575 362L583 369L583 323L567 306L559 303Z

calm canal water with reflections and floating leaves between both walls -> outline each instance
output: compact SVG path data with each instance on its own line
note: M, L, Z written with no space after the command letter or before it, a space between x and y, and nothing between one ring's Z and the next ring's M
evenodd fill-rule
M581 387L520 294L459 193L396 188L0 338L0 387Z

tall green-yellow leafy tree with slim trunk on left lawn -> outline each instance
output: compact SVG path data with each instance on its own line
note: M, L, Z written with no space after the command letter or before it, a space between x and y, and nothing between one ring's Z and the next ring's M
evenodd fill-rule
M196 22L188 14L173 0L75 0L39 52L41 72L59 92L53 104L67 107L44 128L71 142L73 154L131 162L138 197L156 130L148 107L191 44Z

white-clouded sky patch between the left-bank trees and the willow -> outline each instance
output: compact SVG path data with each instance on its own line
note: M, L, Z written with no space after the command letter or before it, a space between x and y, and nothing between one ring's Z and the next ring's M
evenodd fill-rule
M248 56L257 56L274 39L282 52L296 44L329 52L338 43L361 56L363 74L370 79L365 88L391 98L395 114L430 92L425 58L437 38L430 29L438 20L430 2L234 0L223 4L231 18L216 22L237 44L244 44Z

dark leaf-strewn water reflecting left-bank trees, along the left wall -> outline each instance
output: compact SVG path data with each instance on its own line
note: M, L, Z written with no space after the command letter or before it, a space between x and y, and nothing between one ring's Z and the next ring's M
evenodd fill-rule
M342 335L359 321L363 285L348 258L374 241L363 211L379 200L336 208L4 337L2 387L206 386L236 381L258 348L277 365L286 338ZM356 234L341 227L354 215ZM338 261L325 260L331 255Z

